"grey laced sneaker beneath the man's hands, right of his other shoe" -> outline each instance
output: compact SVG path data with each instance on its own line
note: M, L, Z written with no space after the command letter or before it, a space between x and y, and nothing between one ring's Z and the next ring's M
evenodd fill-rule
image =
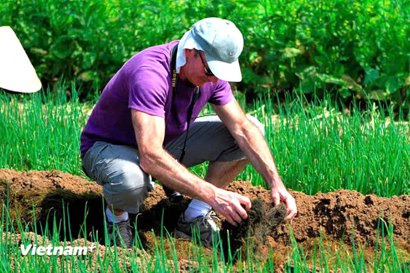
M190 222L185 220L182 213L175 228L175 235L182 239L191 240L192 226L194 226L196 232L199 230L202 244L207 248L211 248L212 240L220 230L214 220L220 221L214 211L210 211L205 216L198 216Z

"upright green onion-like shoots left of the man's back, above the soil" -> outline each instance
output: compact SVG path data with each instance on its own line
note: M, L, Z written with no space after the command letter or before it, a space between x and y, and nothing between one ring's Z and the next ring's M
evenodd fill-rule
M75 95L1 96L2 167L80 174L79 134L86 116Z

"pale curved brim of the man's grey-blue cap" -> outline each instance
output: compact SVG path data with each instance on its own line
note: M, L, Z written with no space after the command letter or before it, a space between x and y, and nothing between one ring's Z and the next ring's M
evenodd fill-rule
M236 82L242 80L238 60L231 63L223 62L213 58L207 52L205 52L205 57L207 58L209 68L218 79Z

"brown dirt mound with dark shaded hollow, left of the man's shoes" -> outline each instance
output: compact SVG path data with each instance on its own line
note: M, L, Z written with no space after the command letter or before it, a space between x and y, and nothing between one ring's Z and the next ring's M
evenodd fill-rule
M66 216L66 221L62 221L65 226L61 228L65 228L67 233L61 233L60 240L64 237L69 239L70 233L73 238L90 238L90 233L98 232L99 237L103 237L101 196L100 186L78 176L58 171L17 172L0 169L0 209L8 198L11 220L16 223L16 218L19 218L23 223L33 223L35 217L38 230L46 224L52 227L53 217L59 223ZM87 228L81 229L85 218Z

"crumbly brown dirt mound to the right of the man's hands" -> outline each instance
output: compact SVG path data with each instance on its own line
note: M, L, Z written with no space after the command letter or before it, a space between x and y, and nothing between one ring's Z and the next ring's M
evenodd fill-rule
M249 182L236 181L229 190L249 197L251 200L261 198L265 203L271 202L270 192L260 186L252 187ZM393 235L396 242L408 248L410 238L410 196L401 195L392 198L366 195L356 191L338 190L331 193L317 193L309 196L291 191L296 200L298 215L292 221L292 232L297 242L316 238L322 233L341 239L373 246L376 240L379 219L386 224L389 219L393 224ZM383 225L386 227L385 225ZM352 230L353 229L353 230ZM387 233L385 233L387 234ZM288 225L280 225L271 237L278 242L289 243Z

